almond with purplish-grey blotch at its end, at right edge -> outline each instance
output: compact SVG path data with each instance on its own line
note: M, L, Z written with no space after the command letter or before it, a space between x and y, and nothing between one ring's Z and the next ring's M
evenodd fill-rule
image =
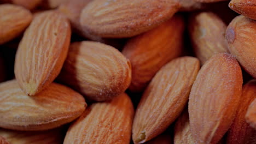
M229 51L242 67L256 78L256 21L237 16L226 29Z

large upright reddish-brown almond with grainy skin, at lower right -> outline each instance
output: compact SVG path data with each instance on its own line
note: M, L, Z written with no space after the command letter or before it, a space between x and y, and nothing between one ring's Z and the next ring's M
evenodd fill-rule
M235 118L242 82L240 65L228 53L219 53L202 66L189 95L190 128L196 143L222 139Z

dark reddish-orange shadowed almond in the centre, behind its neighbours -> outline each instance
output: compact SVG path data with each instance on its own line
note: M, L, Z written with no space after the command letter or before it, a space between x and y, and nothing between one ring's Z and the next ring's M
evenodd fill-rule
M183 17L174 15L160 26L127 42L122 53L132 65L131 91L144 91L163 65L181 55L183 32Z

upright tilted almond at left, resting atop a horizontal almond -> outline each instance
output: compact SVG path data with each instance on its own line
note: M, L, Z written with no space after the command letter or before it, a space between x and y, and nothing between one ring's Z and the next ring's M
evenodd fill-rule
M22 38L14 73L21 89L35 95L59 75L71 38L68 20L56 11L36 15Z

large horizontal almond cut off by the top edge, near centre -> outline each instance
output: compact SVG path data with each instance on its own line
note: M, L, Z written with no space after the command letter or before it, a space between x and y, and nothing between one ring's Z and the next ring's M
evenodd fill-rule
M94 0L83 9L80 23L101 37L132 37L172 17L178 8L177 0Z

